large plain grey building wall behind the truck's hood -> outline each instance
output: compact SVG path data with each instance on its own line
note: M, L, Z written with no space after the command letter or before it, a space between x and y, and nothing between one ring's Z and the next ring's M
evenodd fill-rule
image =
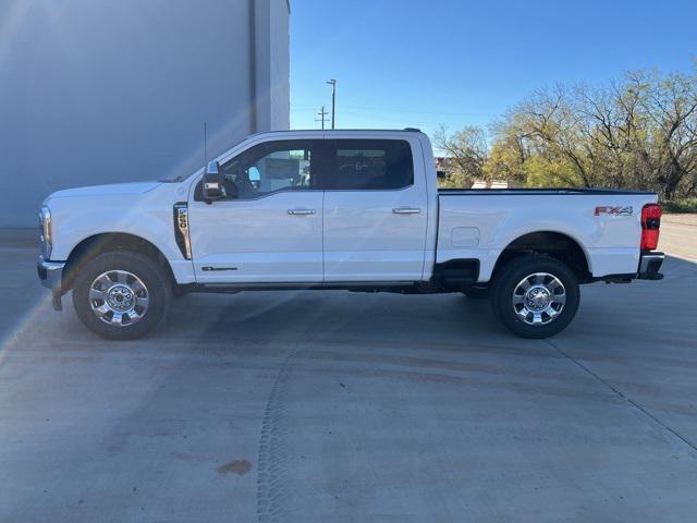
M0 2L0 227L289 127L288 0ZM129 203L124 202L124 206Z

